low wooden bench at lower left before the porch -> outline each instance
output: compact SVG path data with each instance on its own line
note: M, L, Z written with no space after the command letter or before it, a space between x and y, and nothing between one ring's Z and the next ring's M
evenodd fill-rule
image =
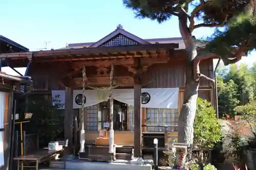
M58 150L58 151L49 151L48 149L41 149L37 150L35 152L32 152L30 154L26 155L20 155L18 157L13 158L14 160L17 160L18 165L17 165L17 170L19 170L20 166L20 161L30 161L30 162L36 162L35 166L23 166L23 167L35 167L36 170L38 170L38 164L41 162L46 161L47 159L50 160L50 165L51 165L51 157L55 156L59 152L63 151Z

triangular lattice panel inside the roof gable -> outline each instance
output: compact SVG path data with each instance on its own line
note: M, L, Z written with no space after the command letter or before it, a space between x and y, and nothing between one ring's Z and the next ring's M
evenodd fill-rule
M137 45L137 44L139 44L137 41L131 38L128 38L122 34L118 34L112 39L101 44L100 46L121 46L121 45Z

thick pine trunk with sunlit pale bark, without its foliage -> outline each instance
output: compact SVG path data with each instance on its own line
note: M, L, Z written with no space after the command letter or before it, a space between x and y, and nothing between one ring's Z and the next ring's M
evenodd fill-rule
M186 83L184 102L182 105L179 124L178 142L193 144L194 120L197 108L199 80L195 80L194 72L199 71L194 67L194 59L197 56L195 39L187 28L187 17L184 14L179 17L179 29L186 47ZM199 68L198 68L199 69Z

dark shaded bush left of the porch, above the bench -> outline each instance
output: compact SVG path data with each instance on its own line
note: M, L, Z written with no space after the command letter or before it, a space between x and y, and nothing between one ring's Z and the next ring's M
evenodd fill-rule
M54 101L58 100L56 96ZM33 113L30 123L24 126L27 133L39 132L39 145L45 147L48 142L62 138L64 119L57 106L52 105L52 100L47 100L44 96L31 95L27 104L28 111ZM25 107L24 107L25 108Z

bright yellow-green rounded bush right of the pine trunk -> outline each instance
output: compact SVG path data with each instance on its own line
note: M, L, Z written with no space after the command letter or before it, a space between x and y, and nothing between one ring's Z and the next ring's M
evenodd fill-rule
M221 125L216 112L206 100L198 98L194 122L194 145L200 148L214 147L221 141Z

